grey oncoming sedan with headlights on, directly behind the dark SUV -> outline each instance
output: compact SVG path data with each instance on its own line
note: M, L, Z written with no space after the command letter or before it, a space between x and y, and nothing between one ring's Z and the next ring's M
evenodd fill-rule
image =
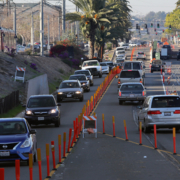
M57 102L64 99L84 100L84 90L79 80L64 80L57 90Z

